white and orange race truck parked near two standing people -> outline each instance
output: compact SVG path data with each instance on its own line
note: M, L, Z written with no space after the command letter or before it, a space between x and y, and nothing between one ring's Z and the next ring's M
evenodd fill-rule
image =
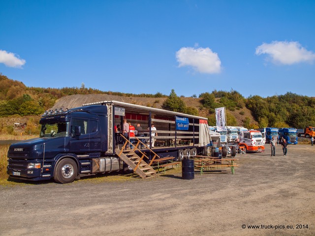
M246 148L247 152L262 152L265 150L261 132L258 130L241 131L239 147Z

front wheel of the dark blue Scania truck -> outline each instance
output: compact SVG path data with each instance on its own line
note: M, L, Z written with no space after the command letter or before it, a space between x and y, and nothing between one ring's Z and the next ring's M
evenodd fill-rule
M78 167L70 158L62 159L55 169L54 180L58 183L71 183L78 174Z

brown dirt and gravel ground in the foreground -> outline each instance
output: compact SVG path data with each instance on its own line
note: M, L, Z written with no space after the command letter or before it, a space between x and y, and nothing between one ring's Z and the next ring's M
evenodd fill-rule
M2 186L0 235L315 235L315 146L276 153L237 155L235 175Z

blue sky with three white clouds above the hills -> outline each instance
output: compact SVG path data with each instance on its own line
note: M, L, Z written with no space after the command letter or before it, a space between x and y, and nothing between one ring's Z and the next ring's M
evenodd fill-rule
M0 0L0 73L29 87L315 96L315 0Z

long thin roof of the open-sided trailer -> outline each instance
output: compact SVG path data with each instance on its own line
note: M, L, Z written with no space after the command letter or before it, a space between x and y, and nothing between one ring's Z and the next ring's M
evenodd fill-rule
M100 101L100 102L83 104L83 106L90 106L90 105L97 105L97 104L105 105L107 103L111 103L117 107L125 108L125 111L128 113L149 115L149 112L151 111L155 115L158 115L158 116L170 115L170 116L182 116L182 117L188 117L188 118L197 118L197 119L208 120L208 118L204 118L204 117L192 116L192 115L188 115L188 114L184 114L184 113L171 112L171 111L167 111L167 110L163 110L163 109L140 106L140 105L130 104L130 103L126 103L126 102L119 102L119 101Z

